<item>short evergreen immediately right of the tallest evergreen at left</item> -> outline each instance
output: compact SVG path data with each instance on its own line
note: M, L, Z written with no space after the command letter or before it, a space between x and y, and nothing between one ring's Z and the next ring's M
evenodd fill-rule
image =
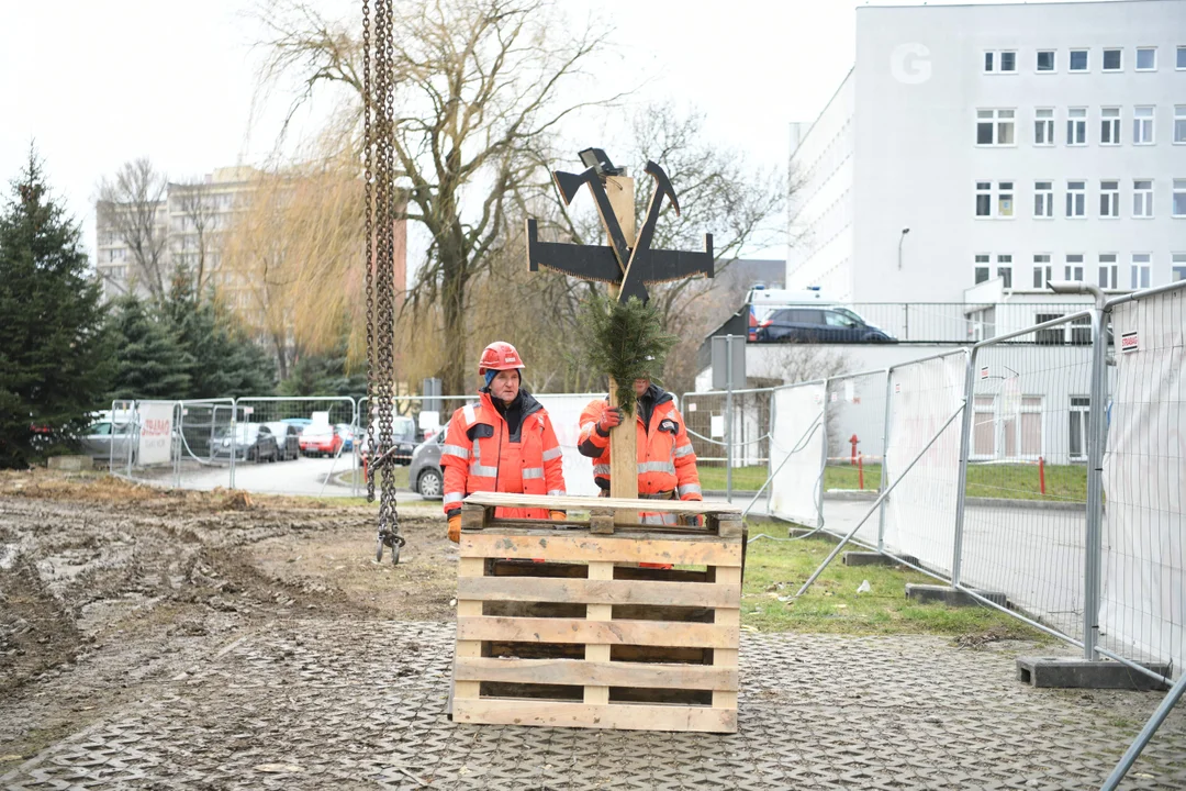
M193 357L172 323L154 315L134 294L115 301L111 321L116 372L111 398L184 398Z

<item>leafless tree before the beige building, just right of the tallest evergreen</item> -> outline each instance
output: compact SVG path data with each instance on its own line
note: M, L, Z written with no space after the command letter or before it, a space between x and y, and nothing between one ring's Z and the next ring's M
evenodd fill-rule
M98 185L98 225L108 228L132 254L132 276L157 302L165 299L168 267L168 181L147 158L125 162L114 179Z

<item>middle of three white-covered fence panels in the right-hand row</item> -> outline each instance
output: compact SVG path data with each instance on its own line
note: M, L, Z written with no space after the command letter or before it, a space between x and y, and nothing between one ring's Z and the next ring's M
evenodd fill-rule
M961 350L890 369L882 474L886 486L898 484L885 502L885 544L943 574L954 556L959 422L952 417L963 406L967 365Z

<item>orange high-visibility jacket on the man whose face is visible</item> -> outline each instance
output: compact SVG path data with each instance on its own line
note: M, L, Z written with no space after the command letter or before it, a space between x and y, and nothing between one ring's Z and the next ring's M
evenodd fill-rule
M461 500L473 492L565 493L560 444L551 419L527 390L521 393L523 420L518 436L510 435L487 390L480 393L478 404L453 413L441 447L446 516L460 511ZM547 519L549 515L548 509L499 508L495 516Z

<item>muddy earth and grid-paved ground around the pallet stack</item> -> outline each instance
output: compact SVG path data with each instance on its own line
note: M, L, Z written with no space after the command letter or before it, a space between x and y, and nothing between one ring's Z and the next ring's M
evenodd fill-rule
M393 567L365 506L0 474L0 787L1090 789L1161 700L1019 683L1050 643L746 625L735 735L458 726L438 509ZM1122 787L1186 789L1186 713Z

